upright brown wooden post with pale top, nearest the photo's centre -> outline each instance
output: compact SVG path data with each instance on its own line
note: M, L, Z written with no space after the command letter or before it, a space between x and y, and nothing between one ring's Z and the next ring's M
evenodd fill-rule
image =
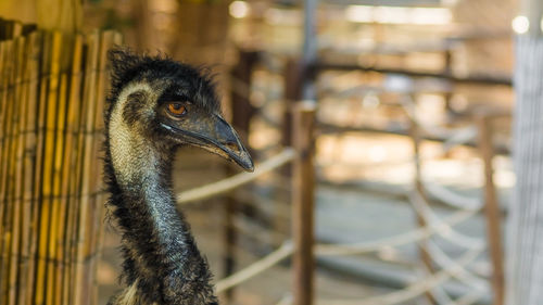
M296 158L292 179L292 240L294 242L293 295L294 305L313 304L315 257L314 211L315 169L313 164L316 106L313 101L295 105L293 117L293 144Z

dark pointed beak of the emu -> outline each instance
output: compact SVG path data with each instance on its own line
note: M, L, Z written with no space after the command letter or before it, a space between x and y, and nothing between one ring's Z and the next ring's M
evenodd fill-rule
M169 122L168 126L164 124L163 126L176 134L181 134L179 136L184 142L233 161L248 171L254 170L251 155L230 124L217 114L197 117L193 120L188 119L177 124Z

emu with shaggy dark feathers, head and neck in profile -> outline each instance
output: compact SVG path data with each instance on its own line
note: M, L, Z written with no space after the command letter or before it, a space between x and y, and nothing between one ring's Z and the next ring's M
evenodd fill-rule
M216 305L207 260L176 207L175 152L198 147L248 171L253 161L224 119L209 68L123 47L108 59L103 176L126 284L108 304Z

